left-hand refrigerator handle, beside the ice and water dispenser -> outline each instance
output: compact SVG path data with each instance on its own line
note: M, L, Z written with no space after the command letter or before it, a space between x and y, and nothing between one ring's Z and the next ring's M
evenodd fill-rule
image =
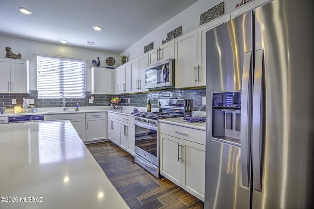
M244 54L242 72L242 93L241 93L241 170L242 184L249 186L250 175L250 155L251 155L251 132L250 132L250 113L251 113L251 54Z

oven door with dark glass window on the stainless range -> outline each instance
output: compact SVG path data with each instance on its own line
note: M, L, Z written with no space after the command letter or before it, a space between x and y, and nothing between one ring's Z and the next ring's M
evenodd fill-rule
M135 121L135 154L159 167L158 127Z

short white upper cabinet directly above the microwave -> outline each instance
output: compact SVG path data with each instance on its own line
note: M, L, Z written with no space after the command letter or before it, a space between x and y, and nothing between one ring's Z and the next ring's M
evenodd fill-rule
M174 40L168 41L165 44L149 51L148 57L149 65L165 59L174 59Z

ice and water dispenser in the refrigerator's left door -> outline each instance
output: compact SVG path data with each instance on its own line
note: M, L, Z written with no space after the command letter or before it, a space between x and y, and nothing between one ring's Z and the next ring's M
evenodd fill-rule
M212 94L212 139L240 146L241 92Z

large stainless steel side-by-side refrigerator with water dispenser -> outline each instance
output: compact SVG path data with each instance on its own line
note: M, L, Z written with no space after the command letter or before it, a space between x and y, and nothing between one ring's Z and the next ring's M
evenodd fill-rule
M314 2L206 34L206 209L314 208Z

